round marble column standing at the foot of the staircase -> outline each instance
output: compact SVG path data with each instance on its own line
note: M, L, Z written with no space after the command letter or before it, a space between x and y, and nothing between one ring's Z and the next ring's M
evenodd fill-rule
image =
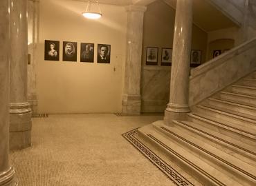
M165 110L165 123L167 124L172 123L173 119L185 118L186 113L190 112L188 88L191 40L192 0L179 0L176 3L174 25L170 102Z

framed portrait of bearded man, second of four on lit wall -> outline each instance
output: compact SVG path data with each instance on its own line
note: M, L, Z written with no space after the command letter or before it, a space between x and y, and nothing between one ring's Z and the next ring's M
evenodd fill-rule
M77 61L77 43L63 41L63 61Z

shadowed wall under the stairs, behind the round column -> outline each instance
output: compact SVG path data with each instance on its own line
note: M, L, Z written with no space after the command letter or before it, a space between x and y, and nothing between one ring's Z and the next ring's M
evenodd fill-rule
M171 67L161 66L162 48L173 48L175 10L163 1L147 6L143 28L143 57L141 75L141 96L143 112L163 112L169 101ZM145 65L147 47L158 48L158 65ZM193 25L192 50L202 51L205 61L207 33Z

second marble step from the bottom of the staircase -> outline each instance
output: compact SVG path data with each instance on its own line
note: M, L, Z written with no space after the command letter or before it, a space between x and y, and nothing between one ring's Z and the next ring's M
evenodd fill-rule
M179 123L179 121L174 121ZM193 154L202 161L208 163L215 169L219 169L223 174L236 180L236 182L244 185L256 184L256 168L238 158L222 152L216 147L212 147L205 141L196 138L195 134L188 134L186 130L177 127L167 127L165 125L157 125L153 123L156 130L171 138L177 144Z

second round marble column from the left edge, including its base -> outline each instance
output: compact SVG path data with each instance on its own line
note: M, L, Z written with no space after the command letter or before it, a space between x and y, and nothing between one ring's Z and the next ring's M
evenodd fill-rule
M10 1L10 149L29 147L31 109L27 100L27 0Z

